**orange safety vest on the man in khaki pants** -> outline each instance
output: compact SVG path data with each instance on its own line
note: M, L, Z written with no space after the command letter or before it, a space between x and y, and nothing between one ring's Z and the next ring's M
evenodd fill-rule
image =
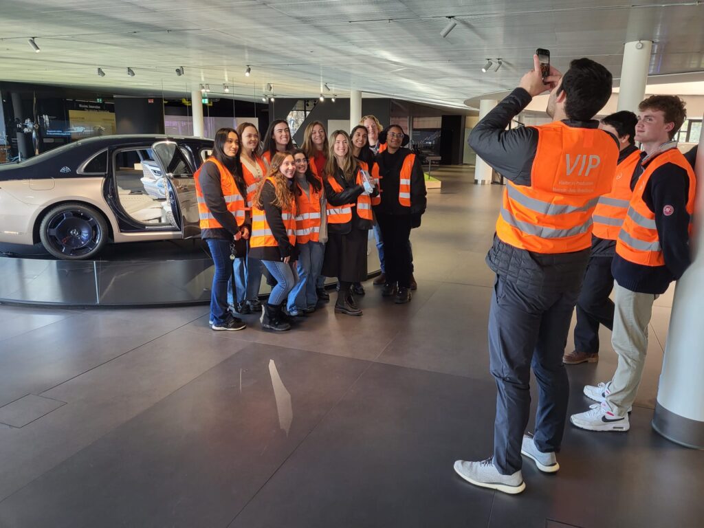
M646 166L646 170L641 175L636 188L633 189L631 203L623 222L623 227L618 234L616 241L616 253L622 258L634 264L644 266L664 266L665 257L662 256L662 246L658 237L658 229L655 226L655 213L646 206L643 201L643 191L646 189L648 180L653 172L665 165L672 163L687 171L689 176L689 196L687 196L686 211L690 216L689 232L691 233L691 215L694 212L694 194L696 192L696 177L691 165L687 162L682 153L674 147L651 159ZM672 206L665 206L665 208ZM670 214L672 214L672 210ZM667 215L667 210L663 211Z

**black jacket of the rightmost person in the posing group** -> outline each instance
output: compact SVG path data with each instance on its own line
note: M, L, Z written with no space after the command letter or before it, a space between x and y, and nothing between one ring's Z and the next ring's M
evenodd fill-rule
M413 170L410 176L410 208L398 202L398 186L400 184L401 167L406 157L412 154L408 149L398 149L391 154L388 150L377 154L379 187L382 190L382 202L374 207L375 213L387 215L422 215L427 205L425 190L425 174L420 165L420 158L415 156Z

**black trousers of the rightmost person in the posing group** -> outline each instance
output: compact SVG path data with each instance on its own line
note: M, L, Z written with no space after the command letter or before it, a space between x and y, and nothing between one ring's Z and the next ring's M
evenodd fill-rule
M384 239L384 271L386 282L399 288L410 288L413 256L410 253L410 215L377 214Z

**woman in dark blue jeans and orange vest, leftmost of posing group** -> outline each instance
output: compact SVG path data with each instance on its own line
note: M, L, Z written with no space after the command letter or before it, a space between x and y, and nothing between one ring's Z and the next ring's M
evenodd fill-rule
M244 256L248 239L246 195L239 168L239 136L232 128L215 133L213 154L194 175L201 237L208 244L215 273L210 290L210 326L213 330L241 330L246 325L227 310L227 282L232 259Z

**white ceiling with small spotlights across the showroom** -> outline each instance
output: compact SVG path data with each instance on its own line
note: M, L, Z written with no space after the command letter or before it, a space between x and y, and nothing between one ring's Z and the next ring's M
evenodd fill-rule
M115 94L317 96L321 82L462 107L517 84L537 47L620 76L623 44L653 39L650 74L704 70L704 5L667 0L0 0L0 80ZM440 36L454 16L457 27ZM42 49L27 44L37 37ZM482 74L486 58L503 67ZM251 77L244 76L251 65ZM186 74L177 77L175 69ZM101 67L105 77L96 75ZM128 77L126 68L136 73ZM326 92L328 94L328 92Z

